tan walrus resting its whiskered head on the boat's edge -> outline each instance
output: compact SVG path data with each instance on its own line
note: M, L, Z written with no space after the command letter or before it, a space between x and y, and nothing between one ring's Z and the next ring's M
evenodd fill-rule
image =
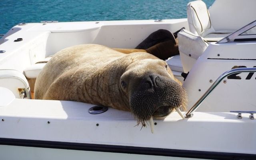
M130 111L138 124L186 106L186 91L164 60L97 44L63 49L36 78L35 99L71 100Z

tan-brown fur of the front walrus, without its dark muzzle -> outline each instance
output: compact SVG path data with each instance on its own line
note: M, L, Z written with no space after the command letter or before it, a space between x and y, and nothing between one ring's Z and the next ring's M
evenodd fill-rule
M36 79L34 96L35 99L73 100L131 111L130 96L148 73L172 83L178 81L166 62L145 52L123 54L96 44L72 46L56 53L44 66ZM123 80L126 87L121 85ZM176 86L182 89L180 84ZM186 94L181 92L174 96L183 101Z

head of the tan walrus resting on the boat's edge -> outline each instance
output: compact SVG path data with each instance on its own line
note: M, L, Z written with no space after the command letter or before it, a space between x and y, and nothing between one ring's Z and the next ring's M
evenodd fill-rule
M186 106L186 91L163 60L134 61L122 74L120 87L128 96L132 114L142 126L151 117L165 118L174 107L185 109Z

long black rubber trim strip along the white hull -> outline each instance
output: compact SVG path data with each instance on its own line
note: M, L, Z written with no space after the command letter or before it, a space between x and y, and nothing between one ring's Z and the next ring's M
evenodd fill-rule
M165 148L148 148L133 146L116 146L105 144L85 144L73 142L55 142L44 140L24 140L12 138L0 138L0 145L26 146L40 148L56 148L67 150L86 150L96 152L115 152L127 154L145 154L154 156L172 156L184 158L204 158L215 160L256 160L256 154L239 154L225 152L206 152L194 150L176 150Z

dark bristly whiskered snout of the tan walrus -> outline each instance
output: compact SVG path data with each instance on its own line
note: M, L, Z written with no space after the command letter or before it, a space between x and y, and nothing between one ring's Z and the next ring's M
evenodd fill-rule
M174 107L185 107L186 101L186 91L180 84L158 74L145 76L130 96L131 111L142 124L151 116L165 118Z

